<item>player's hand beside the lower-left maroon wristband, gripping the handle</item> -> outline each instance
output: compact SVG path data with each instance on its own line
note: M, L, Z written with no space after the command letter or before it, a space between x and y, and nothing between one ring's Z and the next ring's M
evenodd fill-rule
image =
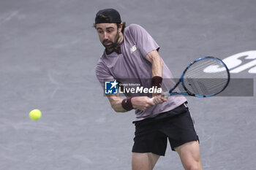
M146 110L154 106L154 102L149 100L147 96L138 96L132 98L132 107L140 110Z

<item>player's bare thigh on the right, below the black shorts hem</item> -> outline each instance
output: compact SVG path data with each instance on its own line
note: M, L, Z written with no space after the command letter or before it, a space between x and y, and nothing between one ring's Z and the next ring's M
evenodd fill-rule
M197 141L187 142L175 148L185 169L202 169L200 147Z

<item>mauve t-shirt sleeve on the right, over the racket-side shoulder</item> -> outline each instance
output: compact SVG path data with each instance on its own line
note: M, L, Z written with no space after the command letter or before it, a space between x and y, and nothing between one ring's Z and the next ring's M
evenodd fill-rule
M146 55L152 50L159 50L159 45L157 45L157 42L154 41L152 36L148 34L146 29L143 27L137 24L131 24L129 26L129 31L143 57L146 57Z

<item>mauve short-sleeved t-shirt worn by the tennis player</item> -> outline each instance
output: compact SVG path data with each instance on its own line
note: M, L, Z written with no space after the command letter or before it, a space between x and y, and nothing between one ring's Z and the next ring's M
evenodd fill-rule
M140 85L151 87L151 63L146 60L146 55L152 50L159 50L159 45L148 32L137 24L131 24L124 29L124 40L119 45L121 53L103 53L96 66L97 78L104 88L105 81L121 83L121 85ZM173 87L173 75L163 61L162 90L166 91ZM129 87L126 87L129 88ZM127 97L145 96L145 94L125 93ZM146 94L148 96L148 94ZM150 95L149 95L150 97ZM170 96L163 104L157 104L145 111L135 109L135 121L147 117L157 116L159 113L170 111L184 104L187 99L184 96Z

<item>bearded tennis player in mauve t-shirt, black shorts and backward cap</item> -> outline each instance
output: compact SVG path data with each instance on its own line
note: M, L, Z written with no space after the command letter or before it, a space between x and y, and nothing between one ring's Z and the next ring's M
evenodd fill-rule
M96 67L102 87L106 80L116 80L122 85L132 83L141 87L167 90L175 85L173 76L162 61L157 42L148 32L131 24L125 26L116 9L97 12L94 28L105 47ZM148 81L148 79L150 81ZM165 155L167 141L178 152L184 169L202 169L200 147L194 121L184 96L164 98L161 93L107 94L116 112L135 110L135 138L132 147L132 169L154 169L159 156Z

